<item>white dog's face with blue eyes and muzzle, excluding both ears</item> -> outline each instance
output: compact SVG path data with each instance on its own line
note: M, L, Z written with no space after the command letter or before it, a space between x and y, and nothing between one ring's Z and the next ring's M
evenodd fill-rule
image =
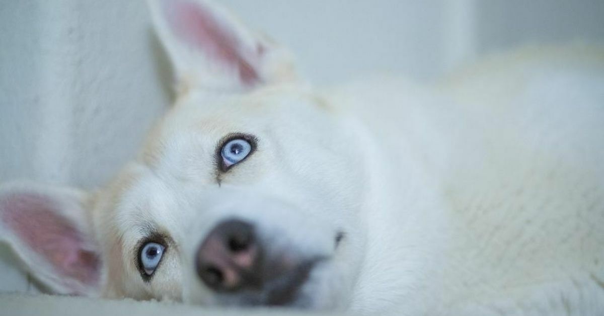
M350 136L312 94L289 85L207 105L200 95L179 100L117 192L101 198L112 203L95 212L115 252L110 295L344 301L360 237ZM161 254L149 259L149 249Z

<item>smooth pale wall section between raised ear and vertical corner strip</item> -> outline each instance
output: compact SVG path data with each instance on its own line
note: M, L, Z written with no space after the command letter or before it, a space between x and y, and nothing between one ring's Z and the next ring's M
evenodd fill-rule
M224 0L298 54L315 83L368 73L430 78L443 66L447 0Z

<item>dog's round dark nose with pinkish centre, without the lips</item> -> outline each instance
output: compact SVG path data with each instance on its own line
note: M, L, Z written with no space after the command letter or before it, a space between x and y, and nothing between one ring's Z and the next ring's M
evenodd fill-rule
M259 286L261 252L251 224L236 219L222 222L199 247L199 277L214 291Z

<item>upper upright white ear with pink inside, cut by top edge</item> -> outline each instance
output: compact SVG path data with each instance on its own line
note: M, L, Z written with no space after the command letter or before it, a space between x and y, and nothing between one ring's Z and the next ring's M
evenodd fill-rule
M181 91L240 91L295 79L289 51L246 28L225 8L205 0L149 4Z

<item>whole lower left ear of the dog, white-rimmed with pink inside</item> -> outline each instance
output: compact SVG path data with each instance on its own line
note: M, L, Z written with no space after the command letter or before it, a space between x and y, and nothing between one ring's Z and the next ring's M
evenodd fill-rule
M95 295L101 260L85 193L27 182L0 187L0 241L59 294Z

